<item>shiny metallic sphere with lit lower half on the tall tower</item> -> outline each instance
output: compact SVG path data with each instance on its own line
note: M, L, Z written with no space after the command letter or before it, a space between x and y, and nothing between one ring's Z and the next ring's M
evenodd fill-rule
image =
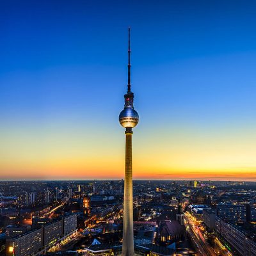
M139 122L139 115L134 108L124 108L119 115L119 122L124 128L134 128Z

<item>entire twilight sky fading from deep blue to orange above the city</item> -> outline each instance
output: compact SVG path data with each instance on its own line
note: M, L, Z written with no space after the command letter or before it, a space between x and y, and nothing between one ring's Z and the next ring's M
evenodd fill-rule
M255 1L1 1L0 179L256 180Z

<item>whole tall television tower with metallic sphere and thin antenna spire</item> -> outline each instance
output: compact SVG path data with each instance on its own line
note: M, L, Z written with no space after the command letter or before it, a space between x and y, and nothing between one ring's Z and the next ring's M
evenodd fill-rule
M139 122L139 115L133 108L134 95L131 92L130 28L128 30L128 85L124 95L124 109L119 122L125 128L125 178L124 178L124 221L122 256L134 256L133 204L132 204L132 128Z

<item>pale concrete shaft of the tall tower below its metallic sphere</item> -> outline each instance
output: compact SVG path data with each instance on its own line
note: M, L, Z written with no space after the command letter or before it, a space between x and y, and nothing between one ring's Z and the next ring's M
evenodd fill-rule
M134 256L132 198L132 131L125 131L124 221L122 256Z

